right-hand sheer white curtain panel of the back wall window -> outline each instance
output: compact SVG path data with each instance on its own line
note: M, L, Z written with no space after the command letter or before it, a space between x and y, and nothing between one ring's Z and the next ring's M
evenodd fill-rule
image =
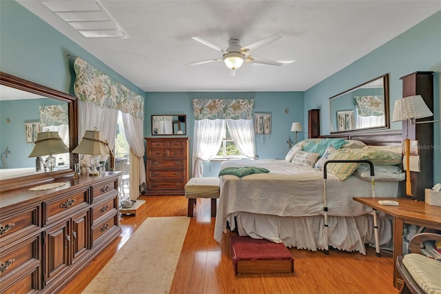
M253 119L227 119L229 135L240 152L248 158L256 158L256 139Z

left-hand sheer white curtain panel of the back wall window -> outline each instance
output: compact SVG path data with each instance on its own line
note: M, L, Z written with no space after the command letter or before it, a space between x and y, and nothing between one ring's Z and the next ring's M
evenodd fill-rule
M207 161L218 152L222 142L225 121L223 119L201 119L194 121L193 173L203 176L202 161Z

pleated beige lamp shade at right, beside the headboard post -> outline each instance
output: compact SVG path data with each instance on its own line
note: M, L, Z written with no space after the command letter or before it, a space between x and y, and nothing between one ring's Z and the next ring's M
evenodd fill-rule
M395 101L392 121L405 121L407 119L421 119L431 117L433 113L424 103L420 95L404 97Z

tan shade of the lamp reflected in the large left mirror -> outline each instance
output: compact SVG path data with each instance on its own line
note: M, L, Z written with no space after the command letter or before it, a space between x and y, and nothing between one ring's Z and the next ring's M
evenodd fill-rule
M34 149L28 157L68 153L69 147L64 144L58 132L46 131L37 134Z

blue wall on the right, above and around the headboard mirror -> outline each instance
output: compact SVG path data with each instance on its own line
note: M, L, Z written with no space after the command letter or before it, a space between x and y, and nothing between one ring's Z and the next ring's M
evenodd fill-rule
M321 134L329 134L329 97L386 73L389 73L389 111L392 117L395 101L402 98L400 77L416 71L435 72L433 119L440 119L440 28L441 11L305 91L305 111L312 108L320 109ZM307 126L306 120L305 126ZM391 129L399 130L402 128L402 123L391 122L390 126ZM440 123L434 124L434 135L433 172L434 181L438 183L441 182Z

